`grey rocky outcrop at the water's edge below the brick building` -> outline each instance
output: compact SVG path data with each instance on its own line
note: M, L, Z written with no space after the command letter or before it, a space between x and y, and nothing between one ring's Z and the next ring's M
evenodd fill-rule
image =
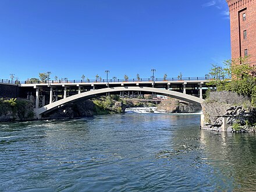
M256 110L250 99L227 91L212 92L202 103L202 129L215 131L255 131Z

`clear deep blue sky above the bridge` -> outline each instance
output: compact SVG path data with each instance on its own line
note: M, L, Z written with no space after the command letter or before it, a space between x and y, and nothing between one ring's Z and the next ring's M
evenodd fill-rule
M230 59L225 0L1 0L0 22L0 79L197 77Z

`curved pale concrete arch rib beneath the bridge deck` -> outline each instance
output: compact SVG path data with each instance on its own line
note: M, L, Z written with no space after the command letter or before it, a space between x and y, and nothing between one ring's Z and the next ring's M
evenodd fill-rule
M143 93L155 93L159 95L165 95L172 98L177 98L183 101L187 101L194 104L201 104L204 99L195 97L193 95L188 95L184 93L179 93L177 91L170 91L161 88L153 88L153 87L109 87L109 88L101 88L98 90L91 90L84 93L72 95L67 98L60 99L59 101L52 102L51 104L45 105L41 108L35 109L35 113L38 118L41 115L54 111L55 109L63 108L67 104L72 102L79 101L80 99L90 99L93 97L97 97L98 95L102 95L105 93L120 93L120 91L141 91Z

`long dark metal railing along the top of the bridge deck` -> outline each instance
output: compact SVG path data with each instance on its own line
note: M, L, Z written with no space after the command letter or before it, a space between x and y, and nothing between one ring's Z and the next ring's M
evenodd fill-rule
M141 78L141 79L81 79L81 80L45 80L45 81L38 81L38 80L33 80L33 81L13 81L13 83L24 83L24 84L39 84L39 83L118 83L118 82L143 82L143 81L192 81L192 80L216 80L217 77L214 76L205 76L205 77L171 77L171 78ZM219 79L219 78L218 78ZM230 77L221 77L221 80L225 79L230 79ZM10 83L10 80L3 80L2 83Z

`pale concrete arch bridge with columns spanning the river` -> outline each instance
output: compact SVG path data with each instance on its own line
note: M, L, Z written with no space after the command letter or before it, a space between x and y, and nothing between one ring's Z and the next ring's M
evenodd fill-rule
M53 82L53 83L52 83ZM207 90L208 79L193 80L132 80L132 81L49 81L47 83L22 83L19 86L27 89L28 97L35 97L34 112L37 118L55 109L63 108L82 99L100 95L141 95L159 94L181 99L190 103L201 104Z

